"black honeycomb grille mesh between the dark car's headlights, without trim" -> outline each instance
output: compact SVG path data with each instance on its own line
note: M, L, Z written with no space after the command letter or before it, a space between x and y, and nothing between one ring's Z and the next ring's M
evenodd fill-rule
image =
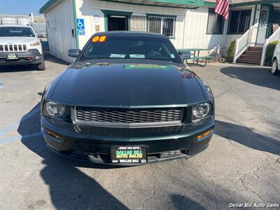
M76 120L88 123L180 123L183 108L107 109L76 107Z

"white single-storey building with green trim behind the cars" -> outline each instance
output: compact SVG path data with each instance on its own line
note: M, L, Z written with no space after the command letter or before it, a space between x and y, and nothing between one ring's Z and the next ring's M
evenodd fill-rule
M212 55L225 55L239 38L235 59L246 62L242 53L249 45L262 47L267 38L279 38L280 1L230 3L226 21L214 13L215 0L50 0L40 13L45 14L50 53L68 62L70 48L81 49L95 32L110 30L161 33L176 48L204 48Z

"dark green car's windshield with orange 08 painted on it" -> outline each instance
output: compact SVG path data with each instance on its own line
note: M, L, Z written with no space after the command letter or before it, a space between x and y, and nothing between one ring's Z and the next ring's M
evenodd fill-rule
M159 59L181 63L168 38L136 35L96 36L85 46L80 60L85 59ZM105 37L105 38L104 38ZM95 39L94 39L95 38Z

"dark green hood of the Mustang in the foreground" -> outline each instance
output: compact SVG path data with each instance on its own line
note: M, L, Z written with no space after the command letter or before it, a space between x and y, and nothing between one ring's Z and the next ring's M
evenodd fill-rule
M80 62L52 89L55 102L73 106L173 106L205 100L199 78L174 64Z

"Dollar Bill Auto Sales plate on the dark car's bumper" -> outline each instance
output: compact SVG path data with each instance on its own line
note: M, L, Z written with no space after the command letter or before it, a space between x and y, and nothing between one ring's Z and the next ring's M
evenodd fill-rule
M145 163L148 161L148 146L112 146L112 163Z

